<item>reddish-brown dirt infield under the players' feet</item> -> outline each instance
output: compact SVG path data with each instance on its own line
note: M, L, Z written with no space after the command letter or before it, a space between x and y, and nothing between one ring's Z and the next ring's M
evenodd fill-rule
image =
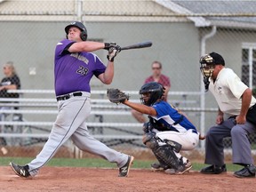
M0 191L8 192L132 192L132 191L255 191L256 179L238 179L232 172L203 175L190 171L183 175L132 169L128 178L118 178L117 169L47 167L34 179L16 176L11 167L0 167Z

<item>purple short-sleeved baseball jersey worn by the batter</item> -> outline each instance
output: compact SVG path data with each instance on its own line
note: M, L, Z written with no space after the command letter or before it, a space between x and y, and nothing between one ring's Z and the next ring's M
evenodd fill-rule
M104 73L106 66L92 52L68 52L68 47L76 42L68 39L56 45L54 58L55 94L69 92L91 92L92 76Z

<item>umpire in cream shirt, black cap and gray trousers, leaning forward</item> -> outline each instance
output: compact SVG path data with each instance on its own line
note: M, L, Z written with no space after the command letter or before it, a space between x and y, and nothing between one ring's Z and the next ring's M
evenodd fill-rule
M224 164L223 139L232 140L233 164L244 166L234 172L238 178L255 177L255 166L248 134L256 132L255 120L250 121L253 106L256 103L252 90L245 85L216 52L204 55L200 59L206 91L212 92L219 111L216 124L206 134L205 164L211 164L201 170L204 174L227 172ZM255 108L254 108L255 109ZM252 115L253 116L253 115ZM253 118L255 119L255 118Z

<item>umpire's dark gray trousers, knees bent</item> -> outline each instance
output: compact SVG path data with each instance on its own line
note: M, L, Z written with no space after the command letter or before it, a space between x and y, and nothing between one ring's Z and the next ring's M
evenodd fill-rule
M218 166L225 164L223 139L231 136L233 164L253 164L251 144L248 140L248 134L252 132L256 132L253 124L236 124L234 118L212 126L206 134L204 163Z

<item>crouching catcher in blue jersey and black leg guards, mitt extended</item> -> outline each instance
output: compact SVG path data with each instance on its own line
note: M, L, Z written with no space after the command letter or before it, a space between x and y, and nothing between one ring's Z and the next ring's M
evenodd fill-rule
M192 168L191 162L180 155L180 150L196 148L199 135L196 127L184 114L163 100L164 86L156 82L140 88L141 104L129 101L129 96L118 89L108 89L108 100L133 108L148 115L143 125L143 143L152 150L158 163L151 164L154 170L169 174L183 174Z

